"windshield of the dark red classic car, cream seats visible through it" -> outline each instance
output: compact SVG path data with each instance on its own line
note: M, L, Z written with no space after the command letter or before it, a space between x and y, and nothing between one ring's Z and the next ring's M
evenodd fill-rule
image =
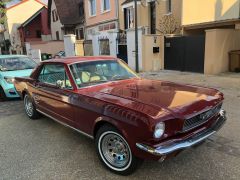
M76 63L70 66L77 86L86 87L98 83L138 77L120 60L103 60Z

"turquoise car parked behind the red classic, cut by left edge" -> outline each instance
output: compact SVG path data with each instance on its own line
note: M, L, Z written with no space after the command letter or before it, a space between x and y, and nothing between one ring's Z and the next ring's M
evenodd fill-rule
M14 88L14 77L29 76L35 61L23 55L0 55L0 99L19 97Z

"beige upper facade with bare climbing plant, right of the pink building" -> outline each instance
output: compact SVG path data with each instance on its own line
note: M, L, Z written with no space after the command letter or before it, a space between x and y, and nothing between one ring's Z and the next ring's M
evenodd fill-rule
M147 34L179 34L181 26L182 0L141 0L138 4L138 26ZM172 18L173 28L165 25L166 17ZM120 29L134 27L134 1L119 0Z

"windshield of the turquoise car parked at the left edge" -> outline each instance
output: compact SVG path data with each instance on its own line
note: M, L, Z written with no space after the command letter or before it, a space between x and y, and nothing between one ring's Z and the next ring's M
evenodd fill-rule
M13 57L0 59L0 71L34 69L36 65L36 62L28 57Z

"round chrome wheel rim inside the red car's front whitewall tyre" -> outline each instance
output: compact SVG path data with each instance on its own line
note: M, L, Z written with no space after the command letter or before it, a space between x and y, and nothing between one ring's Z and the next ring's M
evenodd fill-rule
M116 168L123 168L129 163L128 145L116 134L107 134L102 138L101 150L104 158Z

